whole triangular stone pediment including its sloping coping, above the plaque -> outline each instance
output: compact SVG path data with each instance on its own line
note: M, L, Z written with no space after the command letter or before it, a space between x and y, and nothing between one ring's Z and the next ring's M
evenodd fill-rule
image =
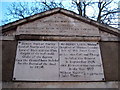
M65 9L56 8L2 27L5 35L63 35L117 40L118 29L100 24Z

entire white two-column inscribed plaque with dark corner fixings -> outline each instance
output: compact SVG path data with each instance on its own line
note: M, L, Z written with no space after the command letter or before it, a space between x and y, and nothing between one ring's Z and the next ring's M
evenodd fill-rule
M18 41L13 80L102 81L99 43Z

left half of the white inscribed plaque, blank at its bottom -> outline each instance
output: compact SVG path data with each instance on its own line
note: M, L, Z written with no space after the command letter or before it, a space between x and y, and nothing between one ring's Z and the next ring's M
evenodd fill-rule
M58 80L58 43L19 41L14 79L27 81Z

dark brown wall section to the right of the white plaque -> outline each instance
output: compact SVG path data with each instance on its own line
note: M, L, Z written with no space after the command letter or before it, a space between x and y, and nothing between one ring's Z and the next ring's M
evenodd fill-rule
M100 42L106 80L118 80L120 42Z

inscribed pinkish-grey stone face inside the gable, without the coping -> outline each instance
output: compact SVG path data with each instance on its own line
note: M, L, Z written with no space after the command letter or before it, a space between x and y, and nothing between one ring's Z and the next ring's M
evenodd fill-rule
M17 34L98 36L99 30L93 25L57 13L18 26Z

